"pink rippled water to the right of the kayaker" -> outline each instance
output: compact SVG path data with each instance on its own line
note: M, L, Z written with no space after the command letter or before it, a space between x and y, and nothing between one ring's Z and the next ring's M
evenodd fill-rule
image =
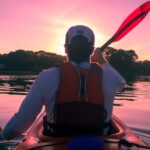
M150 143L150 76L137 77L115 98L114 114Z

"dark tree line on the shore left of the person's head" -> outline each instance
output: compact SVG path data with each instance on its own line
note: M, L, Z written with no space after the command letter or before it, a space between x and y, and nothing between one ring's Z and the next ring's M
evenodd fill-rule
M64 56L45 51L16 50L0 55L2 71L32 71L40 72L43 69L54 67L65 60Z

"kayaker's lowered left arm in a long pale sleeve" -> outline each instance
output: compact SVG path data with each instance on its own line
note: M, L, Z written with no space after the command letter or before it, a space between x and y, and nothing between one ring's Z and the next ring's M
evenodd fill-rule
M25 132L41 111L43 99L42 90L40 88L40 75L37 77L31 90L22 102L19 111L14 114L1 131L1 139L10 140Z

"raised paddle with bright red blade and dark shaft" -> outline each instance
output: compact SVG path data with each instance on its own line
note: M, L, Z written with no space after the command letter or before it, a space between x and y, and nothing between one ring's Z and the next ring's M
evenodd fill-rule
M120 25L116 33L103 45L100 50L103 52L105 48L112 42L117 42L126 36L134 27L136 27L148 14L150 10L150 1L145 2L135 9Z

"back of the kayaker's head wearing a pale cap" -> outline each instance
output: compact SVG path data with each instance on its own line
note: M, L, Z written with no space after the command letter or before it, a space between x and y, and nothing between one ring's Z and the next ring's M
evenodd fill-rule
M66 34L65 45L71 61L88 61L94 46L93 31L82 25L72 26Z

